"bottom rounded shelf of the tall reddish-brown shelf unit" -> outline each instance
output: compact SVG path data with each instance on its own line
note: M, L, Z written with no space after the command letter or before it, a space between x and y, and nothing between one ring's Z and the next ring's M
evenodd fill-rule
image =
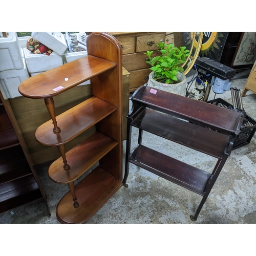
M58 203L56 216L61 223L85 223L116 193L122 181L106 173L99 166L76 186L79 207L74 208L69 191Z

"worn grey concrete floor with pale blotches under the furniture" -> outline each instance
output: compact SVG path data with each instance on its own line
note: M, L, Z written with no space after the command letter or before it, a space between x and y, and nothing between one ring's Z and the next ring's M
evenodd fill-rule
M232 78L232 87L242 91L249 72L237 73ZM191 75L187 75L187 81ZM211 92L208 100L213 98ZM232 104L230 91L216 98ZM247 115L256 120L256 94L248 92L242 99ZM132 147L137 143L137 133L133 129ZM166 155L174 150L173 157L204 170L211 170L216 162L212 157L152 134L144 133L143 143ZM123 166L124 157L125 141ZM47 214L44 201L38 199L0 214L0 223L59 223L56 205L69 189L49 179L49 165L37 166L37 173L48 197L51 216ZM195 214L201 196L133 164L130 164L127 184L128 188L121 187L87 223L256 223L256 135L248 145L232 151L196 222L189 216Z

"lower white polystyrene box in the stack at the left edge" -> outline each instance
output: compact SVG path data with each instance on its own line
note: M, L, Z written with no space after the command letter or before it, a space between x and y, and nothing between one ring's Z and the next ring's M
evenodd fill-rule
M11 69L0 72L0 82L4 89L6 98L15 98L22 96L18 92L18 87L21 82L29 78L29 73L23 59L23 69Z

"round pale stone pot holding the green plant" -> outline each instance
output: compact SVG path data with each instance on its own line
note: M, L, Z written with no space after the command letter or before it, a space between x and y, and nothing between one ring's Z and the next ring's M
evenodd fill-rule
M186 95L186 81L187 81L187 78L183 73L178 72L177 78L181 82L174 83L174 84L166 84L166 83L158 82L154 79L154 77L155 77L155 73L153 71L149 75L148 82L147 82L148 86L154 87L156 89L160 89L162 91L175 93L175 94L178 94L178 95L181 95L181 96Z

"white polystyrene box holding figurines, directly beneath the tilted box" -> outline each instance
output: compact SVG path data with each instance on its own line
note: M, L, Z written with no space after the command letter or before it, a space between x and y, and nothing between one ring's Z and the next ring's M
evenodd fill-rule
M27 48L23 52L29 73L44 72L63 65L62 56L55 52L50 55L33 54Z

